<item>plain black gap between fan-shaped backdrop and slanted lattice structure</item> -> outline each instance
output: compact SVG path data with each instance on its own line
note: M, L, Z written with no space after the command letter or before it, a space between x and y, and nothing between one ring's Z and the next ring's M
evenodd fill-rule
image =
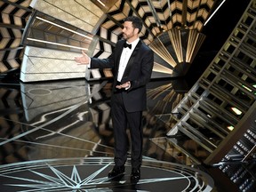
M185 76L189 87L196 83L220 51L250 2L250 0L227 0L204 26L202 31L206 36L204 44Z

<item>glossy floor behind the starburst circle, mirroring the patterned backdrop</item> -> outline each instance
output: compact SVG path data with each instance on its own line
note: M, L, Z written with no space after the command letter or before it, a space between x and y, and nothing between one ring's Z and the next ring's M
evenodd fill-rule
M28 166L29 162L45 159L111 159L114 143L109 116L111 85L108 81L88 83L84 79L2 84L1 167L15 167L15 163ZM143 113L143 164L148 161L155 161L155 165L158 161L177 166L193 164L189 156L156 141L165 139L166 132L175 124L172 108L186 92L187 84L180 81L148 84L148 111ZM129 130L127 133L129 137Z

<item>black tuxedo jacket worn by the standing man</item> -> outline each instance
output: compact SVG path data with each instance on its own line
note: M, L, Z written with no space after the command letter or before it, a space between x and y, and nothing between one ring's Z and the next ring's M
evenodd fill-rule
M120 40L116 44L115 51L108 59L92 58L90 68L113 68L114 82L112 92L116 90L117 73L119 61L123 51L125 40ZM121 83L131 82L131 87L122 92L124 108L127 112L142 111L147 108L146 84L149 82L154 64L154 53L141 40L132 52L132 56L124 70ZM112 100L113 101L113 100Z

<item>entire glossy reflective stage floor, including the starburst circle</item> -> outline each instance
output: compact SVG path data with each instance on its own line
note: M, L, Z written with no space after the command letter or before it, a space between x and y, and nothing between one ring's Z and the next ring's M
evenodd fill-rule
M1 191L238 191L218 167L196 165L166 142L166 133L175 123L172 108L189 91L182 80L148 84L138 183L129 180L129 160L124 178L107 178L114 143L111 81L0 85ZM191 140L179 142L197 148ZM204 156L200 150L197 154Z

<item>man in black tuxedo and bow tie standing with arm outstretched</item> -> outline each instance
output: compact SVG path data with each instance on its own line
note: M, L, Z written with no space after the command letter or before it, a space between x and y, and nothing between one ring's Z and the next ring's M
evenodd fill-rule
M126 135L128 126L132 139L131 180L138 181L142 163L142 111L147 109L146 84L151 77L154 54L140 40L140 18L126 18L123 27L124 38L116 43L115 51L108 59L90 58L82 52L83 55L75 60L79 64L88 64L88 68L113 68L111 117L115 139L115 166L108 173L108 178L124 175L129 149Z

